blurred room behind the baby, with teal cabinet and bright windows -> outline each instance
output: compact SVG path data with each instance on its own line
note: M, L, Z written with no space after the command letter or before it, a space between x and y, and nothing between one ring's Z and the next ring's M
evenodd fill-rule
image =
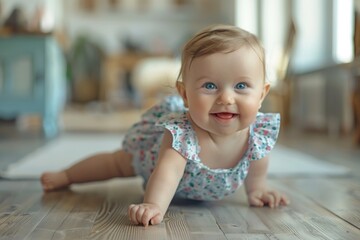
M123 131L210 24L262 40L283 129L360 145L359 0L0 0L0 135ZM2 126L2 127L1 127Z

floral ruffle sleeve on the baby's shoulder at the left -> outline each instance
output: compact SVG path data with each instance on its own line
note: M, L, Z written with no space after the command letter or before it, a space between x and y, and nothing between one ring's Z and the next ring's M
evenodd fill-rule
M156 125L169 130L173 137L173 149L188 160L200 161L200 146L185 112L168 114L160 118Z

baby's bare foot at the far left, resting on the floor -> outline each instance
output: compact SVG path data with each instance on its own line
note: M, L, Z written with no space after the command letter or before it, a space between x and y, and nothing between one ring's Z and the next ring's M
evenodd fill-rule
M44 191L53 191L70 185L68 176L62 172L46 172L40 177Z

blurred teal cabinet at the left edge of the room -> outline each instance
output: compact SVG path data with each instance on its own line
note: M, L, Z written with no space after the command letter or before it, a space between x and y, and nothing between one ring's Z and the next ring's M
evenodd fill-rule
M66 96L64 66L50 35L0 37L0 117L39 113L45 136L57 135Z

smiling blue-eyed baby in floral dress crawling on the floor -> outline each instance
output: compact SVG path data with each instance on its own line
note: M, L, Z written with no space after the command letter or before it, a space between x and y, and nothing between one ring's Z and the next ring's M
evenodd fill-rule
M159 224L175 195L219 200L245 185L251 206L289 204L266 182L279 114L259 112L269 92L265 53L234 26L203 29L184 47L176 87L127 132L122 149L41 176L45 191L74 183L140 175L146 189L129 206L134 224Z

